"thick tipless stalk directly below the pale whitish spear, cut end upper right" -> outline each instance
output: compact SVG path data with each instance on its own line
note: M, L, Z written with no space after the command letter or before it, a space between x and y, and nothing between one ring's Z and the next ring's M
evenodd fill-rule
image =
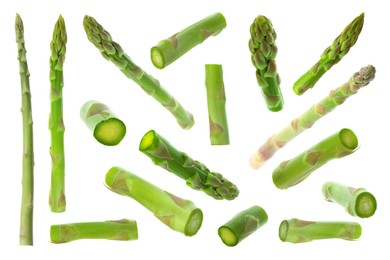
M355 133L347 128L341 129L295 158L282 162L274 170L272 180L279 189L287 189L309 177L328 161L352 154L357 147Z

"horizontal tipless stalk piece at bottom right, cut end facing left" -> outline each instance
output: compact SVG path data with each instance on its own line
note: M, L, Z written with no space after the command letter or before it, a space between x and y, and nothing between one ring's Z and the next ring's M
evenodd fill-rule
M304 243L318 239L340 238L356 240L362 227L356 222L305 221L297 218L283 220L279 226L279 238L283 242Z

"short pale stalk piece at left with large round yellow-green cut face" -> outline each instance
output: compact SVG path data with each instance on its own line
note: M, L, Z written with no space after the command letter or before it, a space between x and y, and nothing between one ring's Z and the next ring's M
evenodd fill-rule
M98 101L86 102L81 107L80 117L101 144L117 145L126 135L126 125L122 120L108 106Z

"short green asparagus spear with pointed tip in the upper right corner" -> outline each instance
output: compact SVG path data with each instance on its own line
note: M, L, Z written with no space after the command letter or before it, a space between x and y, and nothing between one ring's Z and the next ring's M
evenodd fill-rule
M320 60L294 83L294 92L302 95L312 88L333 65L337 64L355 45L364 24L364 13L356 17L324 50Z

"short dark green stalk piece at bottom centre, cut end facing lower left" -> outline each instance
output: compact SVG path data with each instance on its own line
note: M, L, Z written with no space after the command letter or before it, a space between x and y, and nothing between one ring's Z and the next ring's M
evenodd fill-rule
M268 221L265 210L252 206L239 212L226 224L218 228L218 235L227 246L236 246Z

